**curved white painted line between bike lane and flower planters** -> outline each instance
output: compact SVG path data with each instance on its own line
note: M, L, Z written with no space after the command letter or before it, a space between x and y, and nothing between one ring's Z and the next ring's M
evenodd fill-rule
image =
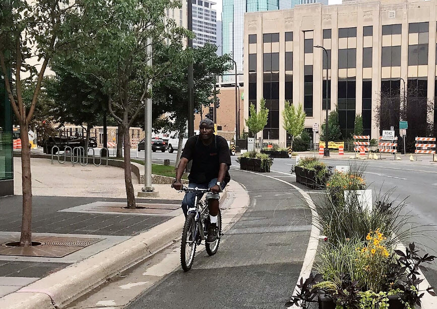
M285 180L275 178L272 176L263 175L260 173L255 173L255 172L251 172L251 171L243 171L243 172L264 176L264 177L275 179L277 181L288 184L289 186L292 186L293 188L295 188L300 194L302 194L303 198L305 198L306 202L308 203L309 209L311 210L311 216L313 218L311 218L312 219L311 220L311 232L309 234L308 246L306 248L305 257L303 258L302 269L300 270L299 277L297 278L296 287L294 288L293 294L296 295L299 292L299 289L297 288L297 284L299 284L300 278L305 278L305 279L308 278L309 274L311 273L311 270L313 269L313 264L314 264L314 260L316 258L316 253L317 253L317 247L319 245L320 231L316 227L316 225L314 224L314 222L317 221L317 218L318 218L317 213L315 211L316 205L314 204L313 199L311 199L311 197L308 195L307 192L303 191L301 188L299 188L298 186L296 186L292 183L289 183ZM285 174L285 173L283 173L283 174ZM294 306L294 307L297 308L297 306ZM291 307L289 307L289 308L291 308Z

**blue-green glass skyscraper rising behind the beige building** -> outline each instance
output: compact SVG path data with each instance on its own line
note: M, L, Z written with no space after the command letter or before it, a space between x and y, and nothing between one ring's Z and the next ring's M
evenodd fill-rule
M233 55L238 73L243 71L244 13L292 9L298 4L301 0L223 0L222 50L223 54ZM223 80L233 79L229 76Z

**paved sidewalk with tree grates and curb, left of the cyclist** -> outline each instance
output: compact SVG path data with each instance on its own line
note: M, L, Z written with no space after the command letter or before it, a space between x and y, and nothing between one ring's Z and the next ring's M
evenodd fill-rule
M93 165L72 167L57 161L51 165L47 159L31 159L32 241L42 245L24 250L11 247L7 244L19 241L21 229L20 158L14 158L14 168L17 195L0 198L0 297L35 281L39 284L41 278L55 276L59 271L77 272L77 265L90 259L98 262L94 266L86 262L87 267L101 267L101 274L84 273L84 276L93 281L91 285L98 284L171 243L182 229L180 201L183 193L170 185L154 185L161 198L137 198L137 206L144 209L130 211L123 209L126 207L123 169ZM134 189L141 190L134 174L132 179ZM95 256L100 258L96 260ZM68 274L61 278L56 275L56 278L67 282L76 275L79 276ZM76 289L69 289L68 299L75 297L74 291L81 293L83 290L78 289L92 287L79 277L75 281ZM64 293L64 289L58 292ZM19 292L17 297L33 299L28 304L44 308L38 299L45 296L26 294ZM15 296L9 297L14 299ZM60 302L66 300L62 298ZM0 308L13 308L14 302L0 298Z

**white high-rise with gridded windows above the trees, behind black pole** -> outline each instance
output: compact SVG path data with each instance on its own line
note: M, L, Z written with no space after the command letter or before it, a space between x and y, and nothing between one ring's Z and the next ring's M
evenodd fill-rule
M193 3L193 47L210 42L217 45L217 11L212 8L215 2L191 0Z

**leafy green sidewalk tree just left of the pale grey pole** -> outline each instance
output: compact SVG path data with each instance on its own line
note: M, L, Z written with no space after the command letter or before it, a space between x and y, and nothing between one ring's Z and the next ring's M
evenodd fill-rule
M109 113L123 134L127 207L135 209L129 129L152 95L149 84L166 74L178 74L175 64L190 55L181 53L182 39L192 33L166 18L167 9L180 5L173 0L83 0L83 3L87 14L76 31L91 31L93 37L86 42L86 48L73 50L69 57L79 62L73 69L93 76L108 97ZM148 52L149 47L153 53ZM150 61L153 59L154 63L160 55L166 55L167 61L151 65Z

